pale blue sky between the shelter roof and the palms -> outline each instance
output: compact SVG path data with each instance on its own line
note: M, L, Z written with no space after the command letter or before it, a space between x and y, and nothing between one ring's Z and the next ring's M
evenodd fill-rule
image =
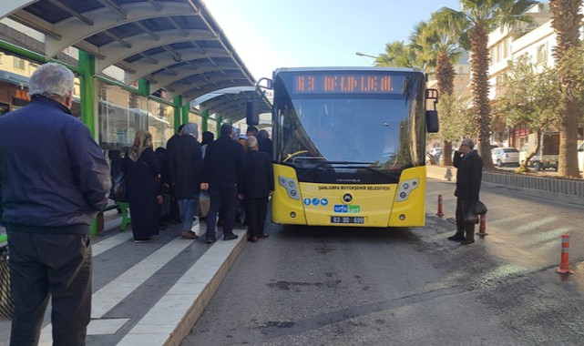
M202 0L256 80L279 67L372 66L458 0Z

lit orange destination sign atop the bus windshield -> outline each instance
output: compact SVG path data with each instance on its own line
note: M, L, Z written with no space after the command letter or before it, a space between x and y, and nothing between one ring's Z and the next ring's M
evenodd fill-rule
M296 94L402 94L405 87L405 76L354 73L303 74L294 76L293 86L293 91Z

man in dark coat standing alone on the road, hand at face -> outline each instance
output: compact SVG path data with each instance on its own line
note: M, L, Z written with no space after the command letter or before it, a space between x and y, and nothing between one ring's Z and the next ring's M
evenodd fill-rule
M456 234L448 237L460 241L462 245L475 242L475 224L465 222L466 213L475 208L483 178L483 159L478 156L472 139L462 140L460 148L455 151L456 169Z

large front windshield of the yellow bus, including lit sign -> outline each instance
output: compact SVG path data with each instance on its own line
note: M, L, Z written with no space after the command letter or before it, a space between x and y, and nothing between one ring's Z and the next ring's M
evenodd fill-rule
M332 76L327 72L312 80L302 72L276 75L276 159L299 170L299 178L302 168L400 172L420 165L424 160L418 145L425 136L419 116L425 109L424 76L393 74L391 80L381 72L337 74L337 86L326 85L325 76ZM372 76L385 86L364 79Z

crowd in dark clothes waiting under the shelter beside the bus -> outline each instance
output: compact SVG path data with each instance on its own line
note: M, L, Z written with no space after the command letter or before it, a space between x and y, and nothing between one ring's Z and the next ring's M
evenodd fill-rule
M182 238L198 239L192 225L202 190L210 196L204 218L207 243L217 240L218 224L223 239L237 239L236 220L248 225L251 241L267 237L263 224L273 191L268 132L250 126L239 136L231 125L223 124L216 140L210 131L202 133L201 142L198 137L197 124L183 124L166 148L153 151L150 134L136 134L120 165L126 173L135 242L151 240L168 223L180 223Z

